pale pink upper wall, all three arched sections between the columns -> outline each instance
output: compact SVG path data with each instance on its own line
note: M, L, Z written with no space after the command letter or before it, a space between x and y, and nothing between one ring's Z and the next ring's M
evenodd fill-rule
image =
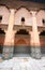
M0 5L0 15L2 16L2 22L0 24L9 24L10 10L6 6ZM20 8L16 11L14 24L21 25L21 17L25 17L25 25L32 26L32 15L26 8ZM45 11L40 10L36 14L38 26L43 26L43 18L45 19Z

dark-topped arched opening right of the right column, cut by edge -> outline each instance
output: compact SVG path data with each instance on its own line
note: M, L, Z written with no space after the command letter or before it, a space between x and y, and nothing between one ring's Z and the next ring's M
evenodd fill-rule
M45 31L40 33L41 53L45 54Z

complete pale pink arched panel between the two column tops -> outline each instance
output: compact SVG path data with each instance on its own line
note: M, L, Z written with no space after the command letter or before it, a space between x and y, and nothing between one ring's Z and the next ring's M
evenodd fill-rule
M21 18L25 18L25 25L31 25L31 14L26 8L20 8L15 13L15 24L14 25L21 25Z

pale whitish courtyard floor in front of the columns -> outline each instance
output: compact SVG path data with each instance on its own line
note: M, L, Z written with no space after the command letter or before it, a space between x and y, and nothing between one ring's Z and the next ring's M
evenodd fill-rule
M41 59L13 57L9 60L2 60L0 57L0 70L45 70L45 56Z

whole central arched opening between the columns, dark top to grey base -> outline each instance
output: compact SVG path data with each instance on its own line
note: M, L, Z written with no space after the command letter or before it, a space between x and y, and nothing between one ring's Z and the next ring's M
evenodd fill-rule
M30 36L26 29L16 32L14 43L14 54L30 54Z

